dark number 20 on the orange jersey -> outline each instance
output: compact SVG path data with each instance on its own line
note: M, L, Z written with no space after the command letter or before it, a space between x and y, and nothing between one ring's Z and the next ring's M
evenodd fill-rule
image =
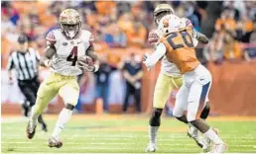
M174 42L174 39L179 37L179 35L182 35L184 43L175 43ZM167 40L174 49L185 47L185 44L188 47L193 47L192 37L187 31L181 31L179 33L172 33L172 34L170 34L170 37Z

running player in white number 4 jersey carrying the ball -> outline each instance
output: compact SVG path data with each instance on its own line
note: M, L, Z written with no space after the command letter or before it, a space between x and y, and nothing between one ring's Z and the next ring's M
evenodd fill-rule
M60 27L61 29L50 32L46 38L47 48L40 64L51 68L52 74L40 86L36 105L27 126L27 137L32 139L36 132L38 116L59 94L64 100L64 109L49 139L49 146L57 148L63 146L60 133L71 118L78 100L79 86L76 76L83 71L95 72L98 69L97 55L93 52L92 34L81 30L78 12L65 9L60 15Z

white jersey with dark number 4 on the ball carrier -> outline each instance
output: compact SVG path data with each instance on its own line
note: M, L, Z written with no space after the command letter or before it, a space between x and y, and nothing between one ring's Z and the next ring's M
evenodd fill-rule
M90 32L80 30L74 39L67 39L61 29L51 31L47 36L48 45L56 47L56 54L53 57L52 70L56 73L74 76L82 71L77 67L79 56L86 55L86 50L93 45L93 37Z

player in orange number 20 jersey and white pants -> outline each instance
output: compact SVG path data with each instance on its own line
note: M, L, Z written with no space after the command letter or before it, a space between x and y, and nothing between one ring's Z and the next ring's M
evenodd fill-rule
M211 86L211 74L196 58L192 27L181 29L181 24L181 19L175 15L167 15L161 19L158 27L161 32L160 43L144 63L151 68L165 55L168 61L176 64L183 74L183 85L177 94L173 115L192 124L214 143L210 153L223 153L226 145L205 120L199 117ZM184 115L186 111L187 115Z

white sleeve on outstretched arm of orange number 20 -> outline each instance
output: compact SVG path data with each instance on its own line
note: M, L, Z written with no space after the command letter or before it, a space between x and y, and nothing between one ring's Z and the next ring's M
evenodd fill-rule
M154 53L144 62L148 68L152 68L166 53L166 46L163 42L159 43Z

